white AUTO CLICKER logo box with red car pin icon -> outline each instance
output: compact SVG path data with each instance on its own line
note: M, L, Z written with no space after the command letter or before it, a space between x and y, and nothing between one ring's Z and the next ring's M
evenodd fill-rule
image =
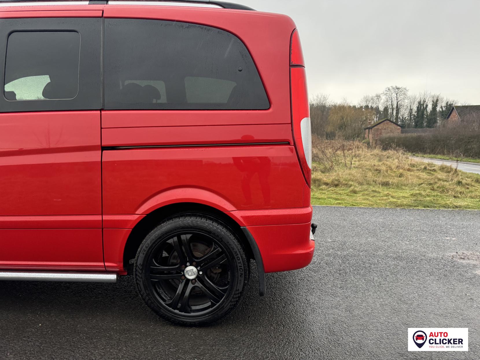
M408 351L468 351L468 327L409 327Z

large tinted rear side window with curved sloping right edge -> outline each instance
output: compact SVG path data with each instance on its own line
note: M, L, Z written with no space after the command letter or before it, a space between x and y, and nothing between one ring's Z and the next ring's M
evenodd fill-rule
M240 39L209 26L105 19L106 109L267 109Z

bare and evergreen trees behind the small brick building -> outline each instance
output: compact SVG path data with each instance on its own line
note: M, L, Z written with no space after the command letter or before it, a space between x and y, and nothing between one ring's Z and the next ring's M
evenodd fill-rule
M382 93L363 96L357 104L336 103L320 94L310 100L312 133L333 139L363 138L363 128L389 119L403 128L434 128L445 120L456 100L440 94L409 94L406 87L388 86ZM467 105L463 103L462 105Z

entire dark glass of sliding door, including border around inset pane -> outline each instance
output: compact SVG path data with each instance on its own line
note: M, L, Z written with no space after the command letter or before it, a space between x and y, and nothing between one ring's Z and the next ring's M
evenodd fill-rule
M101 18L0 21L0 112L102 107Z

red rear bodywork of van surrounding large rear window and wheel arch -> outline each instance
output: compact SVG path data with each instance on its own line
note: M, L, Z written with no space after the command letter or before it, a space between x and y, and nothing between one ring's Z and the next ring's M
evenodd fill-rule
M104 17L195 23L234 34L249 50L270 102L266 110L102 110L102 146L115 147L102 157L106 268L122 268L129 233L124 229L135 223L129 215L140 218L180 202L207 204L241 226L252 225L252 231L262 236L256 239L262 256L268 257L276 246L270 232L265 232L269 225L285 224L278 225L277 231L283 232L285 244L280 242L283 245L270 257L272 264L265 259L265 271L308 264L312 258L312 245L305 245L310 241L310 189L291 128L293 21L264 12L131 5L107 5ZM122 146L139 148L116 149ZM295 215L295 209L301 215ZM129 220L124 222L122 216ZM115 227L108 225L113 223ZM301 224L301 235L297 235L299 227L288 226L292 223ZM298 236L304 241L297 243ZM300 260L274 265L275 259L285 254L283 262L288 253L300 248Z

